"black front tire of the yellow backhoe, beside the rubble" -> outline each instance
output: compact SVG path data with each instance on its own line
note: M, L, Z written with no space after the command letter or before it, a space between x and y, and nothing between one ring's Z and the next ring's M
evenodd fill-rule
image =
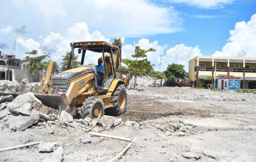
M84 119L85 117L98 118L93 115L94 110L97 108L100 109L101 114L98 117L102 117L104 115L104 103L98 97L91 96L88 97L85 102L82 103L81 107L81 117Z

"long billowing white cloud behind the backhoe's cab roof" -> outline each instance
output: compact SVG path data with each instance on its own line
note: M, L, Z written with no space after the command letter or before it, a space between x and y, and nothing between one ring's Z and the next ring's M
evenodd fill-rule
M37 42L32 38L23 39L17 38L17 43L23 49L20 51L20 58L23 58L22 53L32 51L33 49L38 50L39 55L45 52L50 52L50 60L56 61L58 64L62 61L62 55L66 52L71 51L70 43L76 41L87 41L87 40L102 40L109 42L109 38L103 36L99 31L89 32L87 24L85 22L75 23L74 26L67 29L66 35L61 35L58 32L50 32L45 37L39 36L42 39L41 42ZM77 51L75 51L77 54ZM98 58L101 56L100 53L93 53L87 51L85 64L86 63L97 63ZM79 55L80 60L81 55Z

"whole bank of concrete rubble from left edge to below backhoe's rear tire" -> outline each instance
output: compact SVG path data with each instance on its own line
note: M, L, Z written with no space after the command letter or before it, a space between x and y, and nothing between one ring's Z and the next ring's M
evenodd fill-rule
M22 131L26 128L43 129L55 125L64 128L81 128L85 132L101 132L124 124L121 119L104 115L99 119L73 119L73 117L62 111L59 112L46 107L37 99L33 93L0 97L0 131Z

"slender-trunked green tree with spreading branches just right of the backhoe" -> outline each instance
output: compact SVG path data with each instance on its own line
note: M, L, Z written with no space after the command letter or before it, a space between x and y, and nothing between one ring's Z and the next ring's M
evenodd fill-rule
M132 58L135 60L130 59L123 59L122 62L128 66L128 71L134 75L134 86L136 87L137 78L148 75L148 69L152 69L152 65L150 61L147 59L147 52L156 51L153 48L144 50L141 49L139 46L135 47L135 54L132 55Z

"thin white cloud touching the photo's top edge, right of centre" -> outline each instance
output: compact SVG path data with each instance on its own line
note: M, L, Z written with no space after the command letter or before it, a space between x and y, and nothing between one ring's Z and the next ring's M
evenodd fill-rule
M169 0L169 2L184 3L203 9L223 8L224 5L231 4L235 1L236 0Z

